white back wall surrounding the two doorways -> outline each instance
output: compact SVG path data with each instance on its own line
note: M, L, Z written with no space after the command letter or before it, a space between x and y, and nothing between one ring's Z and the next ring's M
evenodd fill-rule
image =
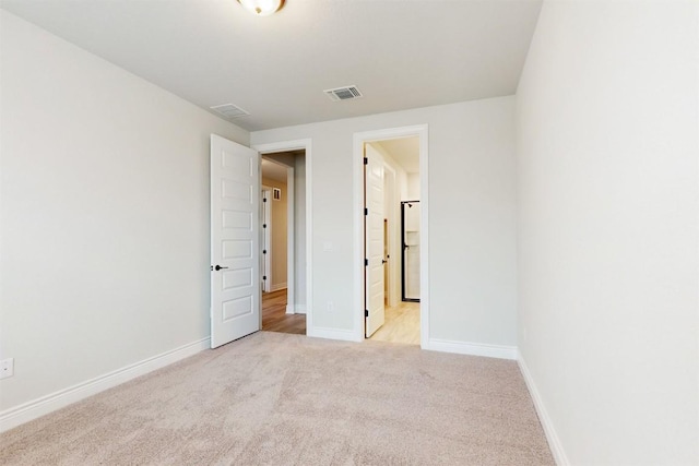
M353 134L427 123L431 337L516 345L513 105L501 97L251 133L253 144L312 139L315 325L351 332L360 312L351 286Z

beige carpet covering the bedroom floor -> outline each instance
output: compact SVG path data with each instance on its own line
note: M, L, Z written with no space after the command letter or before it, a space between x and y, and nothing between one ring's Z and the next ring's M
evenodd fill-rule
M517 363L260 332L0 437L3 465L552 465Z

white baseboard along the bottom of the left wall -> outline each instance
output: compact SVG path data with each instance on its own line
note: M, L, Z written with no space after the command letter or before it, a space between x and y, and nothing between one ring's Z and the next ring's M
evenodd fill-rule
M63 408L88 396L104 392L137 377L144 375L156 369L177 362L189 356L211 347L211 338L202 338L179 348L171 349L152 358L126 366L116 371L87 380L68 389L59 390L20 406L0 413L0 432L17 427L24 422L39 418L57 409Z

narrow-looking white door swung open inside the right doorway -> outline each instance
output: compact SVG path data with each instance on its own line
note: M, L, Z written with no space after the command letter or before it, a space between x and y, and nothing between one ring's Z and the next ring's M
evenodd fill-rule
M365 336L370 337L384 320L383 264L383 159L366 146L365 170Z

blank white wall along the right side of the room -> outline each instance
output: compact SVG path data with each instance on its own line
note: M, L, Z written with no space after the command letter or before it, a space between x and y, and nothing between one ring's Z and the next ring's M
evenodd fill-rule
M699 463L698 5L546 2L520 81L520 350L561 464Z

